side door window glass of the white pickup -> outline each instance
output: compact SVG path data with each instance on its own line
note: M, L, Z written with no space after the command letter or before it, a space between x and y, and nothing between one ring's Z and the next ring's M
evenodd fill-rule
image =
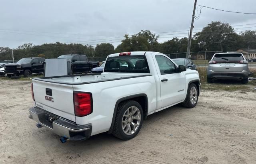
M156 61L161 74L175 73L175 65L167 57L156 55Z

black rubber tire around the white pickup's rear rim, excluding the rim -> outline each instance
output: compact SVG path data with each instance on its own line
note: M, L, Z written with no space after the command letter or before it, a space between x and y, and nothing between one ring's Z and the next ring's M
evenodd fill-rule
M123 121L123 115L126 112L126 110L129 107L137 107L140 111L141 117L140 117L140 124L137 128L137 130L133 133L133 134L125 134L123 129L122 129L122 121ZM138 132L140 131L140 128L143 124L143 110L142 107L140 106L140 104L136 101L133 100L128 100L128 101L123 101L118 105L118 109L117 109L117 113L116 113L116 119L115 119L115 123L114 123L114 128L113 128L113 132L112 134L117 137L120 138L122 140L129 140L131 138L134 138Z

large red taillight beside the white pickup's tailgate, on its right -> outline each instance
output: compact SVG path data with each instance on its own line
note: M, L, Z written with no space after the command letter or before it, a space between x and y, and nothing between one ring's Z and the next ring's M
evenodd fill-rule
M86 92L73 93L75 115L84 117L92 113L92 94Z

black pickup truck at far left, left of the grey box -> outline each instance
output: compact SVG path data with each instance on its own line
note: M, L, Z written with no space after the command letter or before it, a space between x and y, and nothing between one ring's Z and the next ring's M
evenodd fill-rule
M41 57L28 57L17 61L17 63L10 63L4 66L8 77L16 75L24 75L30 77L33 73L44 73L43 62Z

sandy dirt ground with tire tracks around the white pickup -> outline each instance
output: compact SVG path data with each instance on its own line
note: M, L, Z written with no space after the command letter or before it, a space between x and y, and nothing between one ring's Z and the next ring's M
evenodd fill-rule
M139 134L62 144L28 118L29 81L0 81L0 163L256 163L256 90L202 91L193 109L148 116Z

